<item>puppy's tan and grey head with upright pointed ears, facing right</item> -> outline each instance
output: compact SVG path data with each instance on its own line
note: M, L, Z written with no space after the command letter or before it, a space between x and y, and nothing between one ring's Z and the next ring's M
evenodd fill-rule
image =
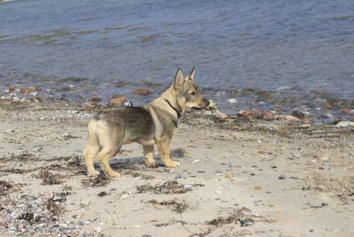
M198 85L194 82L195 68L187 77L183 76L183 72L178 68L176 77L173 81L173 89L177 94L178 105L183 111L190 109L204 109L209 105L209 100L202 97L198 89Z

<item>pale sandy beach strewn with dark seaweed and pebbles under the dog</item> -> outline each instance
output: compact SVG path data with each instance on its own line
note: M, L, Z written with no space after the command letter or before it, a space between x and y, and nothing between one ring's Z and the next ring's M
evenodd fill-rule
M0 236L354 235L354 128L187 114L181 167L145 167L131 144L111 160L122 177L89 179L95 110L1 101Z

